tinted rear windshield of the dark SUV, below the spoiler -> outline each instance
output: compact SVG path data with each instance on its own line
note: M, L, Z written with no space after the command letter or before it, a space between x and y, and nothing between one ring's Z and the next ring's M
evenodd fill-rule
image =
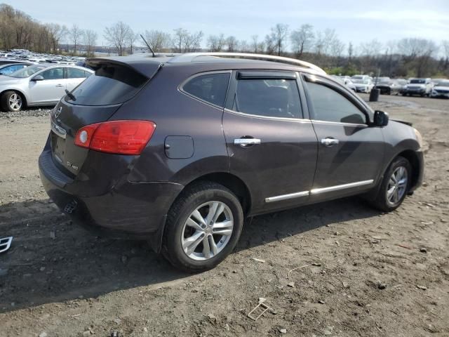
M65 100L74 105L114 105L132 98L148 78L129 67L102 63L95 74L74 88Z

